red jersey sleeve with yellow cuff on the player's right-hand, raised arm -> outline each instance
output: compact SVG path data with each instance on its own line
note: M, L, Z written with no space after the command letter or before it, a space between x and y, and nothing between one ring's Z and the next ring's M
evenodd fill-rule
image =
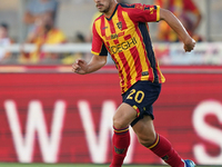
M135 22L160 21L160 7L134 3L130 11L130 18Z

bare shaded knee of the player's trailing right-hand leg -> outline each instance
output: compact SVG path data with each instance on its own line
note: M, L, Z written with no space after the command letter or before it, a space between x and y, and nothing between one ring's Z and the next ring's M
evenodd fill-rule
M155 140L157 135L150 116L144 116L132 128L142 145L149 146Z

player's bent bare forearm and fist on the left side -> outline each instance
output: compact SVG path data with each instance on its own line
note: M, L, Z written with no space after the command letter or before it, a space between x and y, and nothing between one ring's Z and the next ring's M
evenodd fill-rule
M72 65L72 71L79 75L87 75L94 72L107 63L107 56L93 56L89 63L84 60L77 60Z

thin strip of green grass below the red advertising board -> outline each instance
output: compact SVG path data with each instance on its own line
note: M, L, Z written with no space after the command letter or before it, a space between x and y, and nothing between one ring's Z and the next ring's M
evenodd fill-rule
M97 164L13 164L0 163L0 167L109 167L109 165ZM167 165L123 165L122 167L169 167ZM196 167L212 167L212 166L196 166ZM216 167L216 166L214 166ZM219 166L218 166L219 167Z

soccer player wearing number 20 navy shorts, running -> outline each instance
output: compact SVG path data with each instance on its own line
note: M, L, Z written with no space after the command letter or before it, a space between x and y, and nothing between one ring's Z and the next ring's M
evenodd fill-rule
M130 145L129 126L140 144L149 148L172 167L194 167L192 160L182 159L170 141L154 130L152 105L161 91L164 77L149 36L148 22L164 20L181 38L184 50L191 51L195 41L169 10L159 6L122 4L117 0L94 0L103 14L93 23L89 63L78 60L73 72L85 75L99 70L110 52L119 70L122 104L113 116L113 158L110 167L121 167Z

